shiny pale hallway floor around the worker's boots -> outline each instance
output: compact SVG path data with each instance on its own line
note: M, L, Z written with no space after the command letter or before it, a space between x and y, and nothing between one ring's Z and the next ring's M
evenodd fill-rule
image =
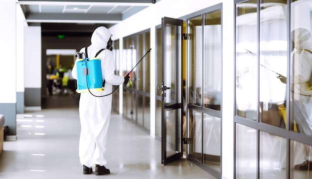
M76 100L76 99L73 99ZM17 140L5 141L0 179L98 179L79 163L78 107L47 108L17 115ZM112 112L107 179L214 179L186 159L161 165L160 141Z

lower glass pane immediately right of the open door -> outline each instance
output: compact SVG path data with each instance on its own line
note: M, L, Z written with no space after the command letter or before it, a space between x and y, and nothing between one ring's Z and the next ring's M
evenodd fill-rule
M202 113L189 110L189 154L202 162Z

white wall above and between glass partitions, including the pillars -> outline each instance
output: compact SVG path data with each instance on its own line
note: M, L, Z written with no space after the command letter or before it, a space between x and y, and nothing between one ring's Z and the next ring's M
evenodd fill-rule
M145 29L151 29L151 81L156 78L155 63L155 28L161 24L161 18L179 18L198 10L223 2L223 64L222 64L222 179L233 179L234 143L234 3L229 0L160 0L141 12L123 20L110 28L114 39ZM173 10L174 9L174 10ZM153 39L153 40L152 40ZM120 46L120 49L122 46ZM122 54L121 54L122 55ZM121 56L121 59L123 57ZM151 83L151 135L155 135L155 84ZM153 100L152 100L153 99Z

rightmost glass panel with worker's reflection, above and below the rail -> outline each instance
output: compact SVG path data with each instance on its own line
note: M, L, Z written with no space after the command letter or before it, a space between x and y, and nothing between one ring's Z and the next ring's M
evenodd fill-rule
M290 129L307 136L312 136L311 4L312 0L297 0L291 4ZM291 151L291 176L312 178L309 173L312 146L291 141Z

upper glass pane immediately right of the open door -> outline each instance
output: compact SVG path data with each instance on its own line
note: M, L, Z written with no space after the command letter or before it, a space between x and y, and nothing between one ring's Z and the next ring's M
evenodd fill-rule
M202 106L203 29L202 15L188 20L189 40L189 103Z

